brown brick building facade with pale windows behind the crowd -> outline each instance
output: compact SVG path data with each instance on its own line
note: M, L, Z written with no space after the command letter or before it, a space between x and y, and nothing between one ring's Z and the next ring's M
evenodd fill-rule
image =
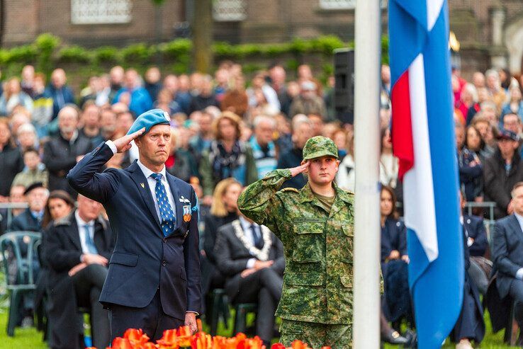
M52 33L77 45L125 45L190 35L193 2L166 0L4 0L6 46ZM213 0L215 40L283 42L322 34L354 38L356 0ZM383 33L387 0L382 0ZM449 0L451 30L461 43L461 68L522 71L522 0Z

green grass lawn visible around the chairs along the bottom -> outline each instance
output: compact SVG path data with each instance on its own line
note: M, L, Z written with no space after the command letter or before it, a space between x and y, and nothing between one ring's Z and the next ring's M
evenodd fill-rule
M232 316L229 321L228 330L224 324L220 322L218 325L218 334L220 336L232 336ZM252 316L248 316L247 323L252 324ZM490 328L490 321L488 313L485 314L485 323L487 324L487 333L485 339L480 345L482 349L501 349L501 348L518 348L510 347L503 344L503 331L493 334ZM7 327L7 309L0 308L0 349L45 349L47 345L42 341L43 333L36 331L35 328L16 328L15 336L8 337L6 334ZM203 331L208 331L209 328L206 324L203 324ZM398 345L385 345L386 349L400 348ZM442 348L454 348L454 343L450 343L448 340ZM476 348L478 346L476 345Z

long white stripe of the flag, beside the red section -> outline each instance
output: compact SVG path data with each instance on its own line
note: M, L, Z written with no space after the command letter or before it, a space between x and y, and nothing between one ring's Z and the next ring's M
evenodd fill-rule
M409 67L410 115L414 166L405 173L403 193L405 224L415 231L429 261L438 256L432 159L430 156L429 125L423 55L418 55Z

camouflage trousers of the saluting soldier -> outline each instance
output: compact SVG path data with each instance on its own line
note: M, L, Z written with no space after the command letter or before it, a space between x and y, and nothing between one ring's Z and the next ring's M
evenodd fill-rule
M283 319L280 326L280 342L291 346L299 339L313 349L330 346L332 349L352 348L352 325L326 325Z

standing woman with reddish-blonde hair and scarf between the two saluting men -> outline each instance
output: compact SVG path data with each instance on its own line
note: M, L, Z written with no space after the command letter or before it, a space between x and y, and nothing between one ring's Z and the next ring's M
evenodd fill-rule
M200 174L203 186L203 203L209 205L210 195L219 181L233 177L241 185L258 180L258 170L252 149L240 140L241 119L225 111L213 122L215 139L202 154Z

